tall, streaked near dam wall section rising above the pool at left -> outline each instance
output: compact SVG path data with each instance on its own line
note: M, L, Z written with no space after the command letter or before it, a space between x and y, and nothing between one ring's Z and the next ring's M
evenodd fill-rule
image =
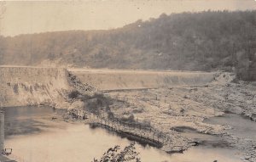
M61 102L69 89L67 70L37 67L0 67L0 106Z

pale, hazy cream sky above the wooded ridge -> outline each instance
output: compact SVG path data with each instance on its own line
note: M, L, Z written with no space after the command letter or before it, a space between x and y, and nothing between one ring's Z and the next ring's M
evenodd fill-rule
M160 14L203 10L252 10L256 0L0 0L0 35L46 31L108 30Z

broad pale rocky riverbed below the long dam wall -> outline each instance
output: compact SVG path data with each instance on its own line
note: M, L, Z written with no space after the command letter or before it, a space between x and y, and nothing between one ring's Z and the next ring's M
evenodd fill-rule
M110 105L111 112L119 119L129 118L172 138L172 147L187 149L191 142L201 142L200 135L220 137L222 143L215 147L239 150L243 161L255 161L255 139L239 137L232 133L230 124L207 123L205 119L233 113L255 121L255 86L248 82L234 82L234 76L220 74L204 86L160 87L154 89L112 91L105 95L123 103ZM106 115L105 115L106 116ZM236 120L233 121L236 123ZM246 125L245 125L246 126ZM183 136L177 127L197 132L197 141ZM171 146L168 146L172 148ZM165 149L165 148L163 148Z

